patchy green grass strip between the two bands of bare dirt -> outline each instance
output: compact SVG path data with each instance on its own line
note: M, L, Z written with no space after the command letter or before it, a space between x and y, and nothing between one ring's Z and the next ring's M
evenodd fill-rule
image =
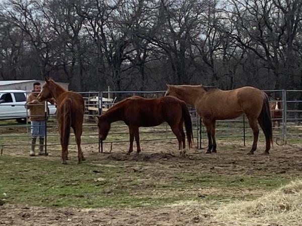
M154 168L138 164L142 169L133 172L126 162L85 162L38 158L0 157L0 199L8 203L60 207L137 207L162 206L178 201L252 199L256 194L234 196L232 190L271 190L288 183L290 176L230 176L187 172L183 169L155 174ZM104 165L103 165L104 164ZM112 165L106 165L112 164ZM229 193L199 196L201 188L219 188Z

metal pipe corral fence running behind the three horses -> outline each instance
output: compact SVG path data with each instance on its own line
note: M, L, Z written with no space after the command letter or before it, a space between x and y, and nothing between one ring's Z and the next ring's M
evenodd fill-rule
M269 102L280 102L282 118L272 119L272 121L279 121L280 127L273 128L273 136L282 139L286 144L288 137L302 136L302 90L263 90L269 96ZM95 120L95 116L101 115L104 110L112 106L112 103L105 102L104 99L116 99L118 102L126 97L139 95L146 98L157 98L165 95L165 91L88 91L79 92L83 95L85 100L85 123L83 124L82 145L98 144L100 151L100 143L98 139L98 127ZM5 90L0 91L6 93ZM29 92L26 93L28 95ZM279 97L276 100L275 97ZM1 100L1 99L0 99ZM3 148L6 146L30 146L31 126L29 125L29 112L26 110L24 103L14 103L13 105L23 106L26 112L25 124L17 124L14 121L1 120L0 121L0 149L3 152ZM12 103L1 102L0 103L0 119L3 112L6 110L6 106L12 106ZM55 114L49 115L48 108L51 106L48 102L44 105L44 117L46 120L45 126L45 142L44 150L47 155L47 147L60 145L59 135L57 130L57 123L55 122ZM223 107L223 106L221 106ZM192 126L193 126L193 138L194 143L198 148L202 147L203 143L207 142L207 135L202 120L197 115L196 110L193 107L189 107ZM273 112L275 109L271 109ZM5 113L5 112L4 112ZM15 114L14 117L18 118L24 115ZM160 141L176 139L167 123L158 127L152 128L140 128L140 141ZM261 130L260 130L261 131ZM70 139L72 139L73 133L70 133ZM252 137L252 131L248 125L247 118L243 115L240 118L233 120L221 120L216 121L216 138L228 138L236 139L242 138L243 144L246 144L246 139ZM262 131L260 136L264 136ZM120 143L129 142L128 128L124 123L113 123L108 138L104 143ZM75 142L70 142L69 145L76 145Z

